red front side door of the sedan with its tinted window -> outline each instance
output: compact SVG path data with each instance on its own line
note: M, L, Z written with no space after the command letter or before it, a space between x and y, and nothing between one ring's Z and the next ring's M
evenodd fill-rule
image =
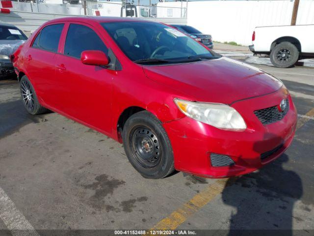
M85 50L100 50L108 56L101 34L83 23L67 25L64 50L57 56L55 107L66 115L105 133L111 132L111 94L114 70L86 65L80 60Z

